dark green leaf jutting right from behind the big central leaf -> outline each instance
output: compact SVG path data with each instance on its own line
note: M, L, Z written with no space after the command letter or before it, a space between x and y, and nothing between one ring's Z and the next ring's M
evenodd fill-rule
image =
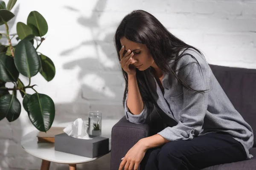
M49 82L55 76L55 66L51 59L47 56L41 54L39 55L41 59L41 69L39 70L41 75Z

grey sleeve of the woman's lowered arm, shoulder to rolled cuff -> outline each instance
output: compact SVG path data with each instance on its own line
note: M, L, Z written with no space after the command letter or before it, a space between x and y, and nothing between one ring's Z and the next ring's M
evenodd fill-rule
M204 116L207 112L208 90L210 88L209 68L207 62L193 62L184 68L185 81L195 90L207 90L206 92L191 92L183 87L183 107L179 111L180 120L173 127L166 127L159 135L169 141L189 140L197 136L204 123ZM208 66L207 66L208 65Z

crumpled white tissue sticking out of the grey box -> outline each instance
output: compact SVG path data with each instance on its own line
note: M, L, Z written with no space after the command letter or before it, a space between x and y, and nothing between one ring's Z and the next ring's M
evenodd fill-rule
M87 126L84 125L84 121L81 118L76 119L72 124L63 129L63 131L73 138L93 139L89 137L87 133Z

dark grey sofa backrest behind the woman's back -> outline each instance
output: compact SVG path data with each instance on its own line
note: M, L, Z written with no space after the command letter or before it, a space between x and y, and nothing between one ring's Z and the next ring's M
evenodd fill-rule
M256 69L210 67L236 110L253 128L256 146Z

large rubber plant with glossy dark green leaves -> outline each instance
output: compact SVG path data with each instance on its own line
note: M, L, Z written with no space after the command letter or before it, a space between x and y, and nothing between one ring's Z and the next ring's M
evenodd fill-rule
M13 122L20 116L21 104L17 99L19 91L23 98L23 108L28 113L30 121L38 130L46 132L52 126L55 105L49 96L35 90L35 85L31 85L31 78L40 73L49 82L55 76L52 60L38 51L45 40L48 25L38 11L32 11L27 17L26 24L17 23L17 34L9 34L8 22L15 17L11 10L16 1L9 0L6 6L5 2L0 0L0 25L6 27L6 32L0 33L0 39L5 37L8 40L8 44L0 44L0 120L6 118ZM12 45L13 38L18 41L17 45ZM20 74L27 77L27 85L19 79ZM6 83L12 83L13 86L8 88ZM28 88L35 93L27 94Z

